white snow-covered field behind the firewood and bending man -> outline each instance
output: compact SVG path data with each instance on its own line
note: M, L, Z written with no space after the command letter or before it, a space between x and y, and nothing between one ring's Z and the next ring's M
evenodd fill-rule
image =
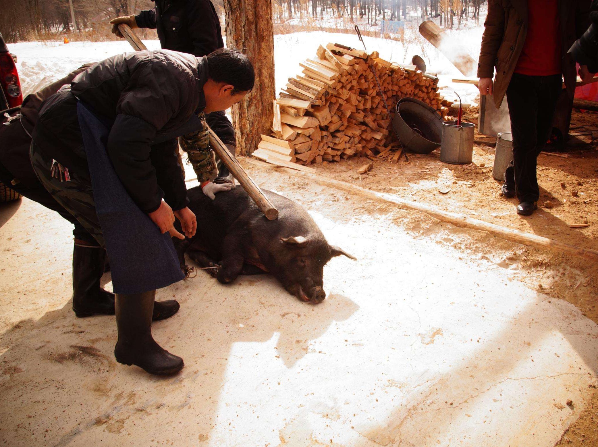
M455 45L461 45L477 60L483 28L469 28L449 31ZM420 39L423 40L423 39ZM337 42L354 48L362 48L356 35L329 32L298 32L274 36L274 59L276 70L276 91L286 84L287 78L300 73L299 62L315 56L320 44ZM397 63L411 63L411 57L419 54L428 66L429 72L438 73L439 85L456 89L463 102L474 102L477 89L468 84L453 84L453 77L463 75L436 48L426 41L401 44L388 39L364 36L368 52L379 51L380 57ZM149 49L160 48L157 40L144 41ZM18 69L25 94L36 87L60 78L87 62L97 62L114 54L131 51L127 41L114 42L19 42L10 44L9 50L19 57ZM447 96L445 94L445 96ZM449 95L450 96L450 95ZM447 97L449 99L449 97Z

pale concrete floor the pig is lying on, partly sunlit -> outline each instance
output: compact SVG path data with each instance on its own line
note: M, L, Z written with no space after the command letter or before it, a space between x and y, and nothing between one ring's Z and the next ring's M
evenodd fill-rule
M557 442L596 380L596 324L370 202L266 178L359 260L330 261L316 306L266 275L158 291L181 302L153 326L185 360L166 379L115 363L114 318L74 318L69 224L26 199L0 206L0 445Z

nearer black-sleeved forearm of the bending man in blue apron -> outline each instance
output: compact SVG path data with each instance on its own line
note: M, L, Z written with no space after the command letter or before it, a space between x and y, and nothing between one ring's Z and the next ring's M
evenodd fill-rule
M151 147L156 129L141 118L119 114L108 136L106 149L118 178L141 211L160 207L164 196L151 163ZM179 172L179 175L180 172Z

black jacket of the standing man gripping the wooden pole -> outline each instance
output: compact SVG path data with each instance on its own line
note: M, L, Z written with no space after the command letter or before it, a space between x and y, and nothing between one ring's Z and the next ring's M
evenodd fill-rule
M197 57L224 48L220 20L210 0L155 0L155 8L135 16L139 28L158 32L164 50ZM213 112L206 121L225 144L237 145L234 129L224 112Z

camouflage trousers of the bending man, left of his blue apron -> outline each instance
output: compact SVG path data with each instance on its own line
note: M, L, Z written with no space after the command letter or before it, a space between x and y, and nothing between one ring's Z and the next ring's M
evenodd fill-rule
M96 203L93 200L93 191L91 191L89 172L84 174L69 172L71 181L61 182L59 179L52 177L50 174L52 158L45 156L39 150L35 141L31 144L30 158L33 171L37 174L44 188L66 211L74 215L79 223L96 239L98 244L105 247L102 227L100 227L97 218Z

